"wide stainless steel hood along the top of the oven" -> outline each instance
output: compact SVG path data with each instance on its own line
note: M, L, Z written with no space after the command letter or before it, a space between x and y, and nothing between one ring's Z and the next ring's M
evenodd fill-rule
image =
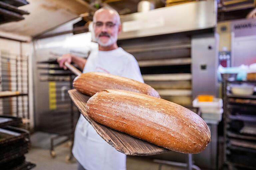
M203 0L121 16L118 40L215 28L217 1Z

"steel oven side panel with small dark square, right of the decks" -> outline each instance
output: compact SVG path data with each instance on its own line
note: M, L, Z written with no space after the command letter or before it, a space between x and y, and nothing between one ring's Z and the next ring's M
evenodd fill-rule
M199 94L217 95L217 42L214 34L191 39L193 98Z

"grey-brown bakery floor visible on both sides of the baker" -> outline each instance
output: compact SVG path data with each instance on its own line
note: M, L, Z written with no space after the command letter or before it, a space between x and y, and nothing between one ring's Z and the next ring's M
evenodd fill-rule
M67 160L70 153L70 143L65 142L54 147L56 156L50 155L50 138L53 134L36 132L31 135L31 147L27 153L26 160L36 164L33 170L76 170L75 158ZM62 138L54 142L63 141ZM155 159L155 158L154 158ZM158 158L159 159L159 158ZM160 158L161 159L161 158ZM160 165L152 160L152 157L127 156L127 170L182 170L169 165Z

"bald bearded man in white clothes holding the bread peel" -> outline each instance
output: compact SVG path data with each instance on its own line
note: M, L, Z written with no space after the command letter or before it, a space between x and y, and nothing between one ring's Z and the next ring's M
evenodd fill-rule
M92 51L88 59L72 54L58 58L60 67L73 62L86 72L105 72L144 82L139 65L133 55L117 46L121 31L120 16L111 8L94 13L93 29L99 50ZM94 128L80 115L75 129L72 153L78 161L78 170L125 170L126 155L103 140Z

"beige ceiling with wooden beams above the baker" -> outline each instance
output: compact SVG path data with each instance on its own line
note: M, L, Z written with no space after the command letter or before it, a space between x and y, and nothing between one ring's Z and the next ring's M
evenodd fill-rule
M61 24L78 18L80 14L90 13L96 10L93 6L109 5L116 9L119 14L137 12L140 0L27 0L28 5L19 7L30 14L24 15L25 19L18 22L10 22L0 25L0 37L11 34L18 36L36 37L52 30ZM163 7L165 0L152 0L155 8ZM221 0L227 1L227 0ZM253 0L246 0L253 2ZM233 2L233 1L232 1ZM256 3L256 0L255 2ZM225 5L225 4L224 4ZM231 4L233 5L233 4ZM255 7L256 4L252 5ZM238 5L239 6L239 5ZM252 7L253 7L252 6ZM232 6L233 7L233 6ZM247 12L248 13L248 12ZM223 18L222 14L222 18ZM232 14L233 16L234 14ZM239 14L241 15L241 13ZM92 18L92 17L90 17Z

